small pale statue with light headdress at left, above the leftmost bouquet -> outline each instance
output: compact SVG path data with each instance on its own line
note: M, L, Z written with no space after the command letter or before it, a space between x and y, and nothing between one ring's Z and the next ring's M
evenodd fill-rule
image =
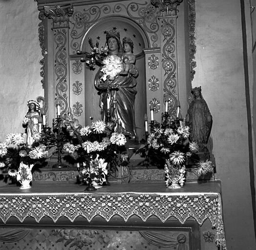
M27 139L26 143L28 146L32 146L34 143L33 134L39 131L39 109L40 105L38 102L30 100L27 102L28 112L23 118L23 126L26 127Z

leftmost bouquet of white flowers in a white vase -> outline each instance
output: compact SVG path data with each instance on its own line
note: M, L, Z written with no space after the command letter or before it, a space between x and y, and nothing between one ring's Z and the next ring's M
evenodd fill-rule
M30 188L32 167L48 156L46 146L40 142L40 133L33 134L34 143L31 147L24 143L24 137L25 134L9 133L5 142L0 143L0 168L7 170L10 177L17 178L21 189Z

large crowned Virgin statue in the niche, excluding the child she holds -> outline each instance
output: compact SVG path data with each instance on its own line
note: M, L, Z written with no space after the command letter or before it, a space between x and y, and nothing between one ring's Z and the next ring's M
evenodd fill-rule
M108 54L104 65L95 76L95 87L100 91L100 107L102 119L106 121L107 112L111 119L118 120L116 132L123 132L136 137L135 131L135 95L138 71L133 66L124 75L123 46L120 34L116 30L107 32ZM121 73L121 74L120 74ZM108 113L109 114L109 113Z

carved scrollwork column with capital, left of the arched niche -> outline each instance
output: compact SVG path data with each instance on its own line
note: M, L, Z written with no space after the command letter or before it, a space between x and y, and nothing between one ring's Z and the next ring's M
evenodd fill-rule
M73 5L54 5L45 6L44 15L52 19L53 30L53 60L54 60L54 109L56 109L56 102L61 102L61 115L67 111L69 102L69 17L73 14ZM48 34L49 35L49 34ZM49 83L50 79L49 79ZM57 111L54 110L54 116Z

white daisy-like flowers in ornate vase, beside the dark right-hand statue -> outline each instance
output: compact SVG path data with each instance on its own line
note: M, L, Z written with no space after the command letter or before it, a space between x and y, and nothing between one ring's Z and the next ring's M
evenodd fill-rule
M164 167L165 182L169 188L183 187L186 165L198 145L189 141L190 127L182 126L179 119L168 120L162 127L153 128L146 145L138 152L145 156L149 165ZM198 171L207 171L211 162L198 163Z

